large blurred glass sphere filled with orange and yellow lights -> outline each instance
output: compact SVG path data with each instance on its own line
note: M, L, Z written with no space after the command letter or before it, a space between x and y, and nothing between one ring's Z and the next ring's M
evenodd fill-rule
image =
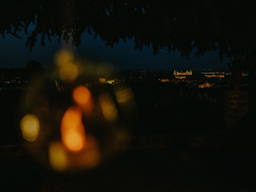
M132 90L109 64L76 60L67 50L54 62L21 100L21 138L53 170L93 168L126 148L136 113Z

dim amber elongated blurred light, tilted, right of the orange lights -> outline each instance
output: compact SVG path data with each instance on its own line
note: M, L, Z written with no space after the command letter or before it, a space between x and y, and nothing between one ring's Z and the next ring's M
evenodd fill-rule
M102 94L99 97L99 103L105 119L108 122L116 122L118 119L118 111L111 97L108 94Z

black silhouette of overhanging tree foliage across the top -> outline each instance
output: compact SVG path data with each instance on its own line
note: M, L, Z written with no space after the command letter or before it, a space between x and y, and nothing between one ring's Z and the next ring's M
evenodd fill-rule
M26 47L38 38L58 36L79 46L84 32L106 46L134 38L135 48L167 48L189 58L215 50L220 59L255 62L256 12L247 0L5 0L0 5L0 32L17 38L33 24Z

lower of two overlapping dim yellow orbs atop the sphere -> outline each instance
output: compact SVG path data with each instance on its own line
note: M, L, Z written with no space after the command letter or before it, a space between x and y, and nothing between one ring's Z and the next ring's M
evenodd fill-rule
M78 69L75 64L67 63L60 68L60 79L65 83L73 82L78 76Z

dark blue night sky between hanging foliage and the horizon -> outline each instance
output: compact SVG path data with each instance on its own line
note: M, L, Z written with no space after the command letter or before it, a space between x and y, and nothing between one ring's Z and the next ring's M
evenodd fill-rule
M20 32L23 39L15 38L7 34L5 38L0 36L0 68L25 68L28 60L38 60L44 68L53 66L54 53L59 50L64 42L58 44L57 38L46 40L46 46L40 45L40 37L32 52L25 48L27 36ZM115 44L114 48L105 46L105 42L93 35L84 33L79 47L72 46L77 55L84 58L93 58L112 63L119 70L227 70L227 62L220 62L216 52L208 52L198 58L192 52L190 60L180 56L179 52L168 54L167 49L160 50L154 56L152 48L143 48L142 51L134 49L134 40L126 43Z

